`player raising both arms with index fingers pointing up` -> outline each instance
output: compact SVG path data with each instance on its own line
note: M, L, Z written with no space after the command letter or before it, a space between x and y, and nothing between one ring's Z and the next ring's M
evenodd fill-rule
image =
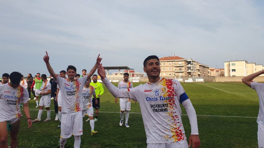
M72 135L74 135L75 139L74 147L77 148L81 145L81 135L83 135L83 117L81 112L83 110L82 89L88 78L93 75L93 73L96 71L96 68L100 65L102 58L99 57L99 55L96 59L95 65L87 74L87 76L78 79L74 79L76 75L76 68L74 66L68 66L66 72L68 79L64 79L53 71L49 64L49 56L47 51L46 55L43 57L49 73L53 76L54 80L61 88L60 91L63 98L61 107L61 148L64 148L67 138L70 138Z

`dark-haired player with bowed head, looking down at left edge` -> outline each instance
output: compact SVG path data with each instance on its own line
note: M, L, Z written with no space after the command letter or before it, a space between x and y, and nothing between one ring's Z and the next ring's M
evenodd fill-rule
M10 131L10 147L18 147L17 134L20 128L21 110L20 102L24 105L24 113L27 117L28 128L32 126L29 113L29 93L21 86L21 74L12 72L10 82L0 85L0 147L7 148L7 125L12 125Z

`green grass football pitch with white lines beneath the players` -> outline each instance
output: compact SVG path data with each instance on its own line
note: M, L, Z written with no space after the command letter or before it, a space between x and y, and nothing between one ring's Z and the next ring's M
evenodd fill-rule
M116 86L118 83L114 83ZM141 83L134 83L137 86ZM258 116L258 96L256 91L243 83L181 83L192 101L198 119L201 147L258 147L256 123ZM33 98L33 97L32 97ZM146 147L146 133L138 103L131 103L129 116L130 128L119 126L119 101L105 88L100 98L100 113L95 122L99 133L91 136L90 124L83 120L81 147ZM35 100L29 101L31 117L37 117ZM52 100L52 110L54 110ZM182 120L186 136L190 136L190 124L186 112L182 109ZM114 113L109 113L114 112ZM215 115L215 116L213 116ZM43 112L42 121L47 112ZM59 147L59 121L33 123L27 128L23 116L18 134L19 147ZM73 147L74 138L68 139L65 147Z

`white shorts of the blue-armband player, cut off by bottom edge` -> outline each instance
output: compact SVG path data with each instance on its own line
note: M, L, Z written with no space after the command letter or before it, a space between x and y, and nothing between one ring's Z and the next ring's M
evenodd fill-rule
M171 143L148 143L147 148L188 148L187 140Z

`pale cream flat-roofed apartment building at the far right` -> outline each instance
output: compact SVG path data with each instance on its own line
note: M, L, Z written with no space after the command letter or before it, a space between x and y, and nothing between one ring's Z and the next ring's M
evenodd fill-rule
M264 69L263 65L248 63L247 61L227 61L224 62L225 76L248 76L252 73ZM264 76L263 74L260 76Z

